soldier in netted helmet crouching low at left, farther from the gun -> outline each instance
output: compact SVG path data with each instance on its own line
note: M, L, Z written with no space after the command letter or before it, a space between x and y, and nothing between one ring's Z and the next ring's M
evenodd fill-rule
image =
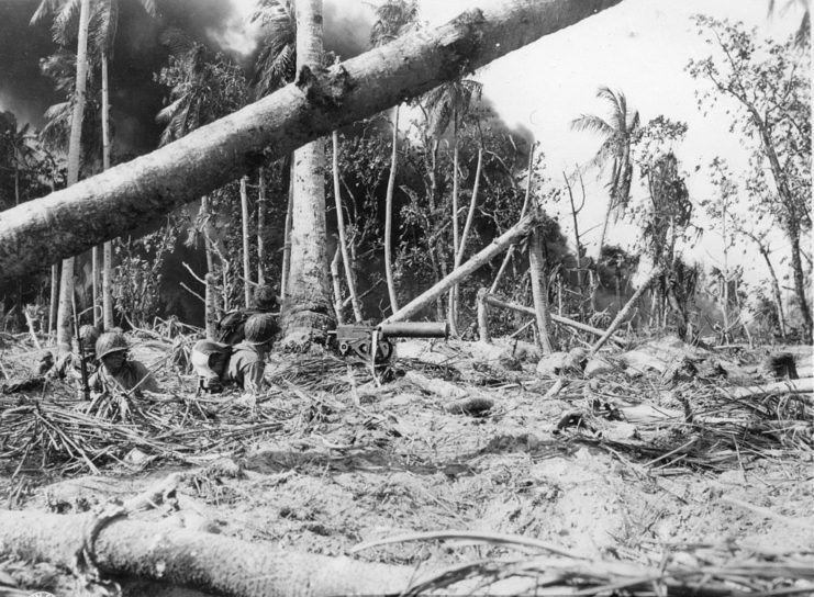
M160 392L146 367L127 358L127 340L120 331L105 331L96 342L96 354L101 364L90 378L90 390L105 393L113 390L132 392L136 397L143 391Z

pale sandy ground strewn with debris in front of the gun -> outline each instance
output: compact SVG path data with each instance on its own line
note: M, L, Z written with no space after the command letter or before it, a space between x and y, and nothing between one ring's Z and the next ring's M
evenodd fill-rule
M419 358L397 360L408 374L381 387L360 383L337 393L310 382L299 394L257 401L257 412L280 415L281 429L274 433L181 460L131 450L100 475L64 477L53 468L21 473L12 483L15 463L4 462L4 497L14 509L85 511L183 471L171 507L140 516L328 555L441 530L512 533L576 555L646 564L667 553L680 557L688 543L814 552L811 443L727 442L713 424L693 431L683 417L604 416L620 408L640 416L643 407L676 413L677 401L702 413L709 382L677 385L657 372L631 376L617 368L593 380L572 374L557 396L546 397L557 378L536 373L534 351L508 360L506 347L458 343L431 349L435 357L421 345L402 348L401 354ZM801 376L811 375L811 347L794 350ZM160 354L142 349L141 358L158 362ZM759 354L726 358L741 373L758 371ZM167 371L159 376L178 387L194 383ZM427 391L415 383L422 379L437 385ZM442 395L445 383L459 394ZM445 408L471 397L493 405L477 415ZM582 425L564 425L575 413L583 415ZM811 408L799 418L798 431L811 438ZM693 432L703 436L691 442L698 450L685 450L683 459L680 451L670 455ZM22 491L21 480L27 483ZM365 549L354 557L437 566L510 551L419 541Z

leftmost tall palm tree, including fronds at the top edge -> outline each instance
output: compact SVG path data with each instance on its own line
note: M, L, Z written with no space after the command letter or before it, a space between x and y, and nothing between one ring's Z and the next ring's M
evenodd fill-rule
M85 115L85 90L88 82L88 23L90 21L90 0L79 0L79 29L77 36L76 83L73 94L73 113L70 123L70 138L68 143L68 181L70 187L79 181L79 165L81 154L82 117ZM37 8L32 24L38 22L46 14L55 12L52 31L55 37L64 36L67 31L66 7L58 5L57 0L43 0ZM63 273L59 288L59 311L57 313L57 347L60 350L70 350L71 312L74 302L74 258L63 261Z

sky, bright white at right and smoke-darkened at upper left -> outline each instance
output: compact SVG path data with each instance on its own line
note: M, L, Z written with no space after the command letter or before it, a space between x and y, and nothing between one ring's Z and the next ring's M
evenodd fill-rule
M325 46L343 58L364 52L376 0L325 0ZM461 10L478 5L478 0L420 0L421 15L430 25L441 24ZM26 20L37 0L0 0L0 109L13 109L30 116L54 103L47 80L23 74L36 66L46 54L47 31L26 27ZM134 2L124 2L125 7ZM704 116L696 106L696 81L684 67L690 58L703 57L711 48L703 44L690 16L703 12L720 19L743 21L765 36L784 38L800 23L795 7L768 14L769 0L623 0L566 30L515 50L482 68L476 77L483 83L483 94L512 127L531 132L546 156L548 177L561 179L561 171L572 170L588 161L599 146L599 138L571 131L569 123L583 113L605 114L605 105L595 98L596 89L606 86L622 91L628 105L637 109L642 121L664 114L689 125L685 142L677 148L682 168L693 172L690 192L700 200L712 192L705 174L716 155L725 157L737 174L746 166L748 153L740 139L728 132L725 106ZM787 0L777 2L782 9ZM793 3L792 3L793 4ZM165 24L182 24L193 33L220 45L250 65L259 31L248 23L256 0L159 0L165 7ZM158 27L144 15L126 8L124 16L137 21L136 33L118 40L113 77L118 77L119 95L113 100L114 119L120 138L126 139L134 153L147 147L156 135L153 115L160 109L159 94L149 72L166 59L157 48ZM5 31L3 31L5 27ZM127 27L121 27L126 31ZM21 32L23 37L21 37ZM126 67L123 66L126 64ZM118 66L116 66L118 65ZM118 70L116 70L118 69ZM25 70L25 72L27 72ZM145 77L145 74L146 77ZM118 114L118 116L116 116ZM700 172L694 172L701 166ZM584 178L587 207L580 214L580 227L588 230L583 243L589 254L596 249L600 224L605 211L606 192L596 176ZM570 237L567 201L547 205L559 216ZM637 230L618 224L610 230L609 243L633 248ZM785 256L782 237L773 240L778 260ZM722 240L707 233L687 252L709 267L721 266ZM767 274L757 252L733 255L746 269L746 279L758 281Z

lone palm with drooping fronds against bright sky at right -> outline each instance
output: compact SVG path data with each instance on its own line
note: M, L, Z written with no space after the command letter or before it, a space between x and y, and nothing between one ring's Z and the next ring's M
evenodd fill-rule
M627 99L621 91L614 93L607 87L601 87L596 91L596 97L609 105L610 117L604 120L601 116L582 114L571 122L571 127L576 131L595 133L602 139L596 155L588 162L587 168L599 168L601 173L609 162L612 165L611 180L607 183L610 200L596 250L596 262L599 262L611 215L614 213L618 215L624 211L631 199L631 181L633 180L631 147L640 121L638 110L629 111Z

